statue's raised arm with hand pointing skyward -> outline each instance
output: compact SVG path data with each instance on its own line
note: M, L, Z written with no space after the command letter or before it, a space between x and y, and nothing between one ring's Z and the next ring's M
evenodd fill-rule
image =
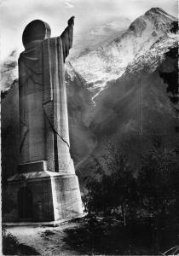
M73 26L74 26L74 16L68 20L68 26L61 34L62 48L63 48L63 60L65 62L67 55L69 54L69 49L72 48L72 38L73 38Z

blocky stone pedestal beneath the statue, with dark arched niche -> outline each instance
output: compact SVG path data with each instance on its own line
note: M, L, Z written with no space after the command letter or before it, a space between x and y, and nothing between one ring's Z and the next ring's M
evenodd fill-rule
M7 198L12 211L3 216L3 222L56 221L83 213L75 174L48 171L16 174L9 178Z

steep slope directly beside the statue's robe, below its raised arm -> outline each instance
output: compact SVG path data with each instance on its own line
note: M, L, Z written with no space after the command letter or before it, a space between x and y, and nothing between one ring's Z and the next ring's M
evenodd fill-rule
M66 90L71 153L76 166L95 148L95 136L89 128L88 120L94 105L85 80L70 63L66 65Z

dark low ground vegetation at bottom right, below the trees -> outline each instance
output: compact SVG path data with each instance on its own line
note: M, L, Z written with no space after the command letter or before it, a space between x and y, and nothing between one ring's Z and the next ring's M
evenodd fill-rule
M65 230L63 241L83 255L161 255L178 243L175 232L163 231L155 247L153 226L142 218L123 225L118 218L88 215Z

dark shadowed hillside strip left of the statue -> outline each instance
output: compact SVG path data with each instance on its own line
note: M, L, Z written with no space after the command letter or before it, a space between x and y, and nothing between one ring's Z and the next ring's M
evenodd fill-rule
M19 89L18 82L7 93L2 94L1 135L2 135L2 182L14 175L19 157Z

